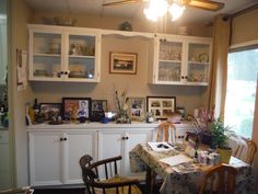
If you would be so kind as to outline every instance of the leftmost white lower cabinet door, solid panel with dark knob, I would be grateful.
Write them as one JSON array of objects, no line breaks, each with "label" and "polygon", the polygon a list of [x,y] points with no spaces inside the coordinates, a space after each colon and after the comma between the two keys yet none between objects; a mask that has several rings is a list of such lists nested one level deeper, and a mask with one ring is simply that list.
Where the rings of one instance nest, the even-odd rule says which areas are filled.
[{"label": "leftmost white lower cabinet door, solid panel with dark knob", "polygon": [[30,133],[31,185],[63,183],[62,137],[61,132]]}]

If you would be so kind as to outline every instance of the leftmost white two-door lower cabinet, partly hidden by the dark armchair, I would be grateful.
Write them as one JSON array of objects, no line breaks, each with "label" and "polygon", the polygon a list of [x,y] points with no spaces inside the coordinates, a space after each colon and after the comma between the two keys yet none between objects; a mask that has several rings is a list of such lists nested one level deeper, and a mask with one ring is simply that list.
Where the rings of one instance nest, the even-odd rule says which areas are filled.
[{"label": "leftmost white two-door lower cabinet, partly hidden by the dark armchair", "polygon": [[31,185],[82,183],[80,158],[95,158],[94,130],[30,132]]}]

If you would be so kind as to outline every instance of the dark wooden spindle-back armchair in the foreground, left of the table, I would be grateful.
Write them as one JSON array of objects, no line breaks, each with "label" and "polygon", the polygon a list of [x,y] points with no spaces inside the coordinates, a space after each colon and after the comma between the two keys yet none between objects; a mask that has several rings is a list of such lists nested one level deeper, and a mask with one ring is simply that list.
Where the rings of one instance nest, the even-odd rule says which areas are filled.
[{"label": "dark wooden spindle-back armchair in the foreground, left of the table", "polygon": [[87,194],[141,194],[136,179],[118,175],[117,163],[121,156],[91,162],[91,156],[80,160]]}]

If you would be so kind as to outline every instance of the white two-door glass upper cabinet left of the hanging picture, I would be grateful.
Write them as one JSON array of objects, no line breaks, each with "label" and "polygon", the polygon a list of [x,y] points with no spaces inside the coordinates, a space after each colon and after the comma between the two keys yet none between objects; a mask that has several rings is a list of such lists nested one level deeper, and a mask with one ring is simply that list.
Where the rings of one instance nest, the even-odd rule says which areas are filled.
[{"label": "white two-door glass upper cabinet left of the hanging picture", "polygon": [[30,80],[99,82],[99,30],[28,25]]}]

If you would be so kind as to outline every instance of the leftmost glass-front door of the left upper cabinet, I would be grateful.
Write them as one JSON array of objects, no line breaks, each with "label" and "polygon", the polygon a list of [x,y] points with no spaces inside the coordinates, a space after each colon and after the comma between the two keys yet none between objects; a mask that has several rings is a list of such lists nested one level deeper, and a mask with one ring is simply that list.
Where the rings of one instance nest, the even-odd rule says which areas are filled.
[{"label": "leftmost glass-front door of the left upper cabinet", "polygon": [[30,32],[30,79],[60,80],[63,36],[58,31]]}]

